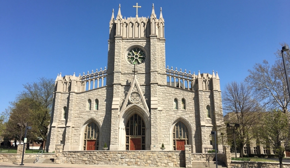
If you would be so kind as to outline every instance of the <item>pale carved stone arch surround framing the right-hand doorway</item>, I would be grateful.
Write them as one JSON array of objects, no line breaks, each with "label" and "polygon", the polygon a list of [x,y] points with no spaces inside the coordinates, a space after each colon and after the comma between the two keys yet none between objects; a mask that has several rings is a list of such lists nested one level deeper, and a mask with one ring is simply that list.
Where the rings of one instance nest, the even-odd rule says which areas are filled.
[{"label": "pale carved stone arch surround framing the right-hand doorway", "polygon": [[170,143],[170,150],[173,150],[173,129],[174,129],[174,126],[176,123],[178,122],[183,122],[184,125],[186,126],[187,130],[188,130],[188,145],[191,145],[193,146],[193,128],[191,126],[191,124],[183,117],[179,117],[177,118],[176,120],[174,120],[173,122],[171,122],[171,125],[169,127],[169,133],[170,133],[170,136],[169,136],[169,143]]}]

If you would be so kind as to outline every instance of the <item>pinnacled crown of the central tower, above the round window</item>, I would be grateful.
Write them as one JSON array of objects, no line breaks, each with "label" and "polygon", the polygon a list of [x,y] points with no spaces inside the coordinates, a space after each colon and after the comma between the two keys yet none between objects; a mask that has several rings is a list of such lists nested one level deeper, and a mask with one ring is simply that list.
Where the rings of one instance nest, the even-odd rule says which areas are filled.
[{"label": "pinnacled crown of the central tower, above the round window", "polygon": [[121,15],[121,5],[116,19],[114,18],[114,10],[110,20],[110,37],[122,37],[123,39],[133,38],[149,38],[150,35],[156,35],[157,38],[164,38],[164,18],[160,9],[160,17],[157,19],[154,12],[154,4],[152,14],[149,17],[128,17],[123,18]]}]

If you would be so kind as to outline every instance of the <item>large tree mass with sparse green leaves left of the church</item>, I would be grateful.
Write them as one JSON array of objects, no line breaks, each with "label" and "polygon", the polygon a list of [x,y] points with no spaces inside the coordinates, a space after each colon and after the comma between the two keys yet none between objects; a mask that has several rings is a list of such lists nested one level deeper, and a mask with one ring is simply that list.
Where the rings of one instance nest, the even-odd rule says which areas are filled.
[{"label": "large tree mass with sparse green leaves left of the church", "polygon": [[28,122],[32,126],[30,131],[31,140],[46,142],[54,85],[53,79],[45,77],[39,78],[38,82],[23,85],[25,91],[16,97],[15,102],[11,103],[12,107],[7,110],[9,116],[6,127],[7,134],[5,135],[7,138],[19,139],[20,128],[16,126],[17,123]]}]

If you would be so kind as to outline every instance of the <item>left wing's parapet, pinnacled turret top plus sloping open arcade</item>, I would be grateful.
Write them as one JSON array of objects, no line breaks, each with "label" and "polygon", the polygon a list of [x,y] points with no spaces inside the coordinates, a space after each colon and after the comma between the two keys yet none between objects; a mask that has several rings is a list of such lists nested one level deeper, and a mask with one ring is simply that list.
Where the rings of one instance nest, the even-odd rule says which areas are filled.
[{"label": "left wing's parapet, pinnacled turret top plus sloping open arcade", "polygon": [[85,92],[92,89],[97,89],[106,86],[107,68],[102,68],[100,71],[96,69],[95,72],[85,74],[81,76],[58,75],[55,80],[56,92]]}]

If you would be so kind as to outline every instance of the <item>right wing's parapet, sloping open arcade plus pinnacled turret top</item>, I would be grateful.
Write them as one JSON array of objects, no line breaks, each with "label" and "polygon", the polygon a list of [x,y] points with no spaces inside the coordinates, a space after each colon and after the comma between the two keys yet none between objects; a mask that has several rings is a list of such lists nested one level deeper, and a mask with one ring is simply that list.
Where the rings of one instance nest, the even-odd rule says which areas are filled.
[{"label": "right wing's parapet, sloping open arcade plus pinnacled turret top", "polygon": [[182,69],[180,71],[177,68],[174,70],[171,66],[171,69],[166,68],[166,75],[167,75],[167,85],[172,87],[177,87],[185,90],[190,91],[220,91],[220,82],[219,76],[216,72],[216,75],[203,73],[200,74],[198,71],[198,75],[195,75],[195,72],[191,74],[189,71],[184,72]]}]

